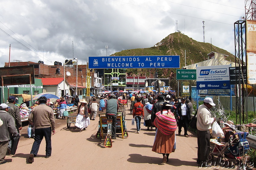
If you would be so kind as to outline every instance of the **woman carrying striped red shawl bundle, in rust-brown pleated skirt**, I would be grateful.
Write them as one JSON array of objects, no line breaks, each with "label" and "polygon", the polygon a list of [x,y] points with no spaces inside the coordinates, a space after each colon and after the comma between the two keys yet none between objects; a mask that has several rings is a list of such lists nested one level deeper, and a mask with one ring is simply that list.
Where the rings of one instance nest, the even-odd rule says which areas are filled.
[{"label": "woman carrying striped red shawl bundle, in rust-brown pleated skirt", "polygon": [[177,123],[170,110],[169,101],[165,101],[162,110],[156,113],[154,125],[156,126],[156,137],[152,151],[163,154],[163,163],[169,161],[170,153],[175,151],[175,130]]}]

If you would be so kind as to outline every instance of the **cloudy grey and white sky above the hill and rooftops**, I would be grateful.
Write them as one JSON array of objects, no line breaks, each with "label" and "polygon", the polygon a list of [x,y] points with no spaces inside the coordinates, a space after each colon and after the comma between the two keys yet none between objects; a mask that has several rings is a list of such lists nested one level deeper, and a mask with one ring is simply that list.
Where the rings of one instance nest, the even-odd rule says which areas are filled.
[{"label": "cloudy grey and white sky above the hill and rooftops", "polygon": [[[125,49],[149,48],[178,30],[234,54],[234,22],[243,0],[12,0],[0,1],[0,67],[9,62],[53,65]],[[73,46],[74,44],[74,57]]]}]

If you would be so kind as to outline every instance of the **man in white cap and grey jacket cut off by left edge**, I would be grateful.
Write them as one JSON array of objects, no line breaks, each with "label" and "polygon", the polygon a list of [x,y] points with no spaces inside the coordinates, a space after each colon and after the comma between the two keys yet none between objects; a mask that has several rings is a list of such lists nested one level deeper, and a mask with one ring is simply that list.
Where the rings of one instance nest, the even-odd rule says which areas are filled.
[{"label": "man in white cap and grey jacket cut off by left edge", "polygon": [[6,156],[10,133],[13,135],[13,137],[18,135],[14,119],[8,113],[9,108],[10,107],[5,103],[0,105],[0,120],[3,121],[2,126],[0,126],[0,164],[7,162],[4,160],[4,158]]}]

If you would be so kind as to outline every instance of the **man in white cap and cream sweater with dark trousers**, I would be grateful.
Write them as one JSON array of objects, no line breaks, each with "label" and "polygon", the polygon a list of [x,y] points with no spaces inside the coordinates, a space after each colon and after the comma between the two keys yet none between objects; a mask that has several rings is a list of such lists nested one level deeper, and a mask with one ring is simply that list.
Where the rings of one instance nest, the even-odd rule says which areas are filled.
[{"label": "man in white cap and cream sweater with dark trousers", "polygon": [[197,110],[197,160],[196,162],[201,167],[207,167],[208,155],[210,152],[210,129],[212,123],[216,120],[211,117],[210,109],[215,106],[212,98],[206,97],[204,103]]}]

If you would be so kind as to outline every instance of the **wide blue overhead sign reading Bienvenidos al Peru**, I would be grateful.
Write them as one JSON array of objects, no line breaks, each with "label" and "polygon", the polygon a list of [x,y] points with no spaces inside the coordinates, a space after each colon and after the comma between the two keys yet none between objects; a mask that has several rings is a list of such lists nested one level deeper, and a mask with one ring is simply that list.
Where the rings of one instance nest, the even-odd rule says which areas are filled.
[{"label": "wide blue overhead sign reading Bienvenidos al Peru", "polygon": [[89,69],[180,68],[180,55],[89,57]]}]

